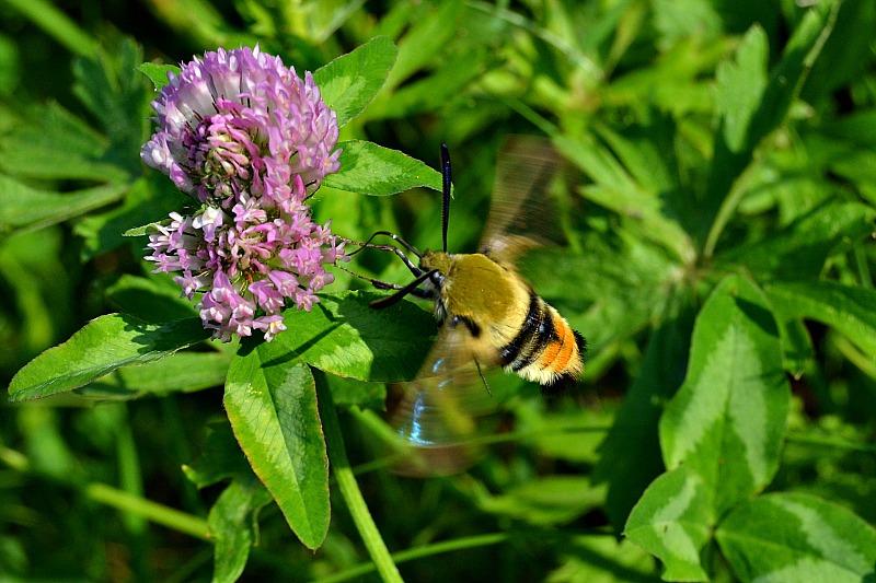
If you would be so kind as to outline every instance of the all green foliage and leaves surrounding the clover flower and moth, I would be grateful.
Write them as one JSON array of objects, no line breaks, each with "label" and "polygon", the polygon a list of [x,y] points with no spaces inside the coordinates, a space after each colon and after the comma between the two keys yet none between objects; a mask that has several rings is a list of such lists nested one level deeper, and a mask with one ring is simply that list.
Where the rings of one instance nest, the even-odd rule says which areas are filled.
[{"label": "all green foliage and leaves surrounding the clover flower and moth", "polygon": [[[0,4],[0,581],[391,580],[381,546],[410,581],[872,579],[876,2],[808,4]],[[585,380],[545,401],[491,374],[462,475],[388,470],[382,382],[417,370],[427,306],[374,315],[338,272],[275,342],[215,346],[122,236],[183,201],[139,161],[140,65],[256,43],[337,101],[314,212],[347,237],[439,244],[442,141],[451,250],[507,136],[575,171],[567,245],[523,268]]]}]

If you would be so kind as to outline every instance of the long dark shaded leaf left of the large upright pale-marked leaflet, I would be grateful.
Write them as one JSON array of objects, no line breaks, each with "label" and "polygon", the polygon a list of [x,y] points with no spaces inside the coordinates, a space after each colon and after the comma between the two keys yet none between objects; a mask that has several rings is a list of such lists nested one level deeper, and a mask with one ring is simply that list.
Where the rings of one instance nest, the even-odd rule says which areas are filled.
[{"label": "long dark shaded leaf left of the large upright pale-marked leaflet", "polygon": [[657,434],[660,404],[684,380],[693,328],[691,304],[692,299],[680,293],[662,314],[662,323],[648,338],[642,371],[599,448],[593,481],[609,482],[606,513],[616,532],[652,480],[664,471]]}]

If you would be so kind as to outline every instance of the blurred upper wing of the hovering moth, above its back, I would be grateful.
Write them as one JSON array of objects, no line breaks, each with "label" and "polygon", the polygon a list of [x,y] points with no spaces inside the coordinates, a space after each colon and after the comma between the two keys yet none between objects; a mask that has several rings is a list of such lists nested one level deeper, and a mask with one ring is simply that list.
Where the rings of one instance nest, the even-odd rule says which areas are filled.
[{"label": "blurred upper wing of the hovering moth, above its back", "polygon": [[493,199],[479,250],[512,263],[521,253],[561,241],[551,188],[564,170],[548,139],[508,138],[496,159]]}]

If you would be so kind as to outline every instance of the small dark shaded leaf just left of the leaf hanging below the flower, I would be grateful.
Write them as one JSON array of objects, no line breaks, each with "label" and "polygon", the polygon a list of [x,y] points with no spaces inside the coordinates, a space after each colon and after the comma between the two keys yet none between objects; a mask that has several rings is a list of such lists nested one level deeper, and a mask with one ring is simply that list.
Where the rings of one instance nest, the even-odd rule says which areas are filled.
[{"label": "small dark shaded leaf just left of the leaf hanging below the flower", "polygon": [[200,455],[191,465],[183,466],[183,474],[188,481],[200,489],[229,478],[246,481],[254,477],[252,467],[231,432],[231,424],[215,421],[208,427],[207,441]]}]

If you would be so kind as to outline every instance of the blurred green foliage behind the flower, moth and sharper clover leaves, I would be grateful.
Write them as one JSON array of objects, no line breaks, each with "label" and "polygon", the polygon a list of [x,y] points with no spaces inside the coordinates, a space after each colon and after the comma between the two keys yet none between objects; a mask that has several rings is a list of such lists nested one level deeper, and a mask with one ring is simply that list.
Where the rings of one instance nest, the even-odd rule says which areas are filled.
[{"label": "blurred green foliage behind the flower, moth and sharper clover leaves", "polygon": [[[620,492],[613,485],[613,503],[589,478],[630,387],[657,375],[667,393],[654,398],[671,396],[684,376],[695,310],[734,266],[761,281],[784,269],[872,288],[876,250],[861,244],[860,225],[814,225],[835,226],[835,236],[816,237],[816,248],[798,248],[779,267],[769,259],[781,249],[757,245],[825,205],[876,205],[876,3],[841,4],[781,124],[764,130],[724,184],[711,172],[716,119],[760,95],[804,13],[792,0],[4,0],[0,380],[7,385],[89,319],[136,302],[114,289],[145,273],[143,242],[120,233],[181,201],[139,161],[153,92],[137,65],[258,43],[301,72],[388,35],[400,49],[396,65],[342,139],[368,139],[433,166],[438,145],[449,144],[451,250],[475,248],[508,135],[546,133],[573,144],[564,150],[569,158],[579,154],[583,196],[565,199],[557,217],[567,245],[539,255],[527,273],[588,337],[590,352],[580,392],[550,405],[516,378],[491,376],[514,395],[500,423],[516,436],[471,474],[418,481],[361,466],[381,534],[391,549],[458,543],[452,560],[404,563],[411,581],[654,580],[653,558],[614,537],[661,471],[656,434],[650,443],[631,438],[652,450],[652,467],[627,468],[641,483]],[[735,57],[752,25],[766,48],[760,78]],[[741,195],[726,226],[711,232],[719,213],[710,198],[715,188]],[[58,197],[67,203],[59,207]],[[323,188],[314,211],[351,238],[381,229],[419,248],[440,243],[434,191],[378,198]],[[818,247],[826,242],[832,247]],[[407,279],[385,257],[362,258],[359,267]],[[343,273],[338,280],[339,289],[359,284]],[[172,290],[165,296],[168,308],[193,313]],[[673,327],[661,337],[662,351],[645,359],[652,330],[667,320]],[[873,523],[876,454],[842,444],[873,443],[876,363],[821,324],[809,323],[808,333],[811,353],[796,362],[793,431],[771,488],[817,493]],[[115,494],[101,485],[205,516],[219,490],[198,492],[180,468],[204,448],[210,423],[224,419],[220,386],[221,378],[205,380],[211,388],[100,406],[76,398],[0,405],[0,581],[209,579],[209,543],[107,506]],[[342,421],[354,464],[379,460],[372,418],[353,412]],[[602,468],[607,475],[616,478]],[[315,553],[276,508],[258,517],[246,578],[330,580],[366,560],[343,504],[333,508]],[[718,579],[731,576],[726,565],[715,569]]]}]

